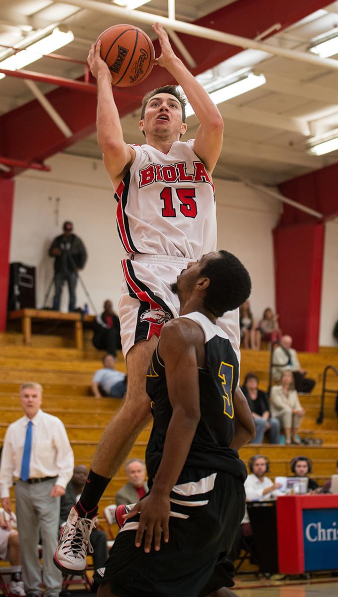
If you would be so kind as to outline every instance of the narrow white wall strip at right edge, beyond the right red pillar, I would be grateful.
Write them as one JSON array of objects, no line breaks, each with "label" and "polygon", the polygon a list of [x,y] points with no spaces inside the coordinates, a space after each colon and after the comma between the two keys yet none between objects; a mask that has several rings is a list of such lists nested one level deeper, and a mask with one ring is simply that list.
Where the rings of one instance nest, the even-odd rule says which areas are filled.
[{"label": "narrow white wall strip at right edge, beyond the right red pillar", "polygon": [[320,346],[337,346],[332,332],[338,320],[338,218],[325,224]]}]

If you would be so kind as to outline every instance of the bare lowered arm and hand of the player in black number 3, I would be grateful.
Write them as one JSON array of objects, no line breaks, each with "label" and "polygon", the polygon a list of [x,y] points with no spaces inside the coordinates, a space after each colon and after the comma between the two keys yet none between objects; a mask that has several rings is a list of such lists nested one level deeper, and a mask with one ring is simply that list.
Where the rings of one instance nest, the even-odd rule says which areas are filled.
[{"label": "bare lowered arm and hand of the player in black number 3", "polygon": [[[187,320],[188,321],[188,320]],[[145,536],[145,552],[152,540],[155,550],[169,539],[170,492],[179,478],[189,453],[201,413],[194,330],[180,321],[167,323],[161,332],[160,352],[165,363],[165,377],[173,414],[168,426],[161,464],[149,496],[143,498],[125,518],[140,512],[136,547]],[[161,533],[162,531],[162,533]]]}]

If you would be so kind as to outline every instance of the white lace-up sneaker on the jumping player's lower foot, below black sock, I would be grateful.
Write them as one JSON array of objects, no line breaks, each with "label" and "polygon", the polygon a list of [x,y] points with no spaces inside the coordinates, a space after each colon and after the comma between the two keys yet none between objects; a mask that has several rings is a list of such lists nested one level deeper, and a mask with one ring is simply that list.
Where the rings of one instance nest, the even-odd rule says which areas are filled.
[{"label": "white lace-up sneaker on the jumping player's lower foot, below black sock", "polygon": [[81,518],[73,506],[66,524],[61,530],[53,562],[65,573],[84,574],[87,569],[87,552],[93,553],[90,534],[95,527],[95,518]]}]

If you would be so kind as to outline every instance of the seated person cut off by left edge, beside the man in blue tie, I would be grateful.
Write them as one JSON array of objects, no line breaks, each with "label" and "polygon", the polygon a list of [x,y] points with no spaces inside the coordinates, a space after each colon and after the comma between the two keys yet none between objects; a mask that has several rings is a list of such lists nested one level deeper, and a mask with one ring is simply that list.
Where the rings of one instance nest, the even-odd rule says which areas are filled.
[{"label": "seated person cut off by left edge, beside the man in blue tie", "polygon": [[0,560],[10,562],[12,567],[10,595],[24,597],[23,582],[21,580],[21,555],[19,533],[13,528],[16,526],[15,514],[7,514],[0,508]]}]

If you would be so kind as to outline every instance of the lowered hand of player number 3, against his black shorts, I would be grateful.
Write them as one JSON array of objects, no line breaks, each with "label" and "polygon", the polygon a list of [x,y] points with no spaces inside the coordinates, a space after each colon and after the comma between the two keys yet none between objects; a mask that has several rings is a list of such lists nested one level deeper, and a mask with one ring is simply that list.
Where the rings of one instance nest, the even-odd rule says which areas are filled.
[{"label": "lowered hand of player number 3, against his black shorts", "polygon": [[163,536],[164,543],[168,543],[169,540],[169,496],[149,494],[149,496],[139,501],[123,518],[127,520],[128,518],[133,518],[138,513],[140,513],[140,522],[136,532],[136,547],[141,546],[144,536],[145,552],[150,552],[152,541],[155,552],[159,552],[161,549],[161,537]]}]

